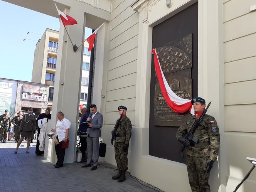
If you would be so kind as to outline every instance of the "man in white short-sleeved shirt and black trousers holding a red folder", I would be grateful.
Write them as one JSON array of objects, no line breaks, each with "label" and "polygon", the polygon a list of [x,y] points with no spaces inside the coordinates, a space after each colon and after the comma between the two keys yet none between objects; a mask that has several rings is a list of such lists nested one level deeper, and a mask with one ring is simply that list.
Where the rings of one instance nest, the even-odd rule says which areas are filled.
[{"label": "man in white short-sleeved shirt and black trousers holding a red folder", "polygon": [[57,118],[58,121],[56,123],[56,128],[52,129],[52,132],[56,133],[57,140],[59,141],[59,144],[55,145],[55,151],[58,159],[56,165],[54,165],[55,168],[63,167],[66,148],[62,148],[62,142],[67,142],[71,126],[71,122],[64,117],[64,113],[61,111],[57,113]]}]

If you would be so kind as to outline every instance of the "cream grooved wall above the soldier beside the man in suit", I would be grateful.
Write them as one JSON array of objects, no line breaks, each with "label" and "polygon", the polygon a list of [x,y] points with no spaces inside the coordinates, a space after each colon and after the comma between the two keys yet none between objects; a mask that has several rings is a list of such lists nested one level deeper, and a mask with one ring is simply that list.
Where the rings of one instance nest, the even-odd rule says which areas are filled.
[{"label": "cream grooved wall above the soldier beside the man in suit", "polygon": [[[139,13],[131,9],[132,1],[114,1],[109,34],[105,125],[113,127],[118,106],[128,108],[127,116],[135,125],[135,92]],[[132,90],[128,93],[128,90]],[[123,94],[124,93],[124,94]]]}]

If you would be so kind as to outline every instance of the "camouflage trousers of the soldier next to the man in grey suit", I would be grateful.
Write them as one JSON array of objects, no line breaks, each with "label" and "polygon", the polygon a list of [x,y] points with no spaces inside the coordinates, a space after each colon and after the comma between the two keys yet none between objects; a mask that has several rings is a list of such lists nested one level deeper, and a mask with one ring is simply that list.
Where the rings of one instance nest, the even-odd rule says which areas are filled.
[{"label": "camouflage trousers of the soldier next to the man in grey suit", "polygon": [[128,150],[126,152],[123,152],[123,144],[120,142],[115,142],[115,158],[116,158],[116,164],[117,168],[119,170],[125,171],[127,170],[127,165],[128,165]]}]

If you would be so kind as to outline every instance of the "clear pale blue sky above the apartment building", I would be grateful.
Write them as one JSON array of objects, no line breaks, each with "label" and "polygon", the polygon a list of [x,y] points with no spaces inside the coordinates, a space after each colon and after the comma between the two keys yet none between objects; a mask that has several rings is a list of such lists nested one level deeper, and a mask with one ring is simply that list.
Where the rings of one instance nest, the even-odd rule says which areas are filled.
[{"label": "clear pale blue sky above the apartment building", "polygon": [[0,18],[0,77],[31,81],[35,45],[46,28],[59,31],[59,19],[2,0]]}]

